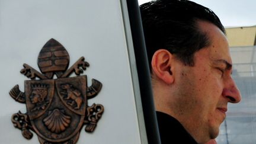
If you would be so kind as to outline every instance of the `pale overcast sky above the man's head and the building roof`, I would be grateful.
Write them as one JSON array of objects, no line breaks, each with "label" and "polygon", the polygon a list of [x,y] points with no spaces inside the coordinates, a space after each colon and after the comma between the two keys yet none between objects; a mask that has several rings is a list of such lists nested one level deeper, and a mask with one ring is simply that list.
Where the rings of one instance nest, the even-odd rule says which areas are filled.
[{"label": "pale overcast sky above the man's head and the building roof", "polygon": [[[225,27],[256,25],[256,0],[191,0],[212,9]],[[138,0],[139,5],[149,0]]]}]

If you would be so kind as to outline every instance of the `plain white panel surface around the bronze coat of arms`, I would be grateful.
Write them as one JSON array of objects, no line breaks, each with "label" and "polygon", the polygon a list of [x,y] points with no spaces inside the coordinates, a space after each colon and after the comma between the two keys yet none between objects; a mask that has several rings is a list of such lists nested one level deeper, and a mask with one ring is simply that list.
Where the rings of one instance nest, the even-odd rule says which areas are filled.
[{"label": "plain white panel surface around the bronze coat of arms", "polygon": [[141,143],[118,0],[0,0],[0,143],[39,143],[35,134],[27,140],[14,128],[12,114],[26,110],[8,92],[16,84],[24,91],[23,63],[39,71],[37,56],[51,38],[68,51],[69,66],[81,56],[89,62],[83,74],[88,85],[92,78],[103,83],[100,94],[88,100],[104,105],[103,117],[93,133],[83,127],[78,143]]}]

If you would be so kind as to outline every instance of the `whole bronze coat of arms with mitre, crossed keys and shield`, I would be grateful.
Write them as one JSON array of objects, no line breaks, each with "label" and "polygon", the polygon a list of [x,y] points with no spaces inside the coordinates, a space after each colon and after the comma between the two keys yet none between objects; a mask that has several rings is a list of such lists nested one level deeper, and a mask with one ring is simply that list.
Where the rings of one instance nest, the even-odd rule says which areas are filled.
[{"label": "whole bronze coat of arms with mitre, crossed keys and shield", "polygon": [[[84,57],[68,69],[68,52],[55,39],[44,44],[37,64],[41,73],[27,64],[21,69],[31,79],[25,81],[25,92],[18,85],[9,92],[15,101],[27,107],[27,113],[19,111],[12,115],[12,123],[26,139],[31,139],[33,131],[40,143],[76,143],[82,126],[87,124],[85,131],[93,132],[103,114],[103,105],[87,105],[87,100],[100,92],[102,84],[92,79],[92,85],[87,87],[87,76],[80,76],[89,66]],[[73,72],[77,76],[69,78]]]}]

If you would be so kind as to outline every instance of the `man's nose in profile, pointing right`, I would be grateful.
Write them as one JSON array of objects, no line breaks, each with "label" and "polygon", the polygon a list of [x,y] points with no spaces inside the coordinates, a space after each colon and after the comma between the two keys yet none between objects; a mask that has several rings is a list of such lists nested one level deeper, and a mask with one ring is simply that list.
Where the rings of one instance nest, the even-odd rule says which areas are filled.
[{"label": "man's nose in profile, pointing right", "polygon": [[231,76],[229,76],[228,79],[225,79],[224,84],[225,87],[222,91],[223,97],[228,98],[229,103],[238,103],[241,101],[241,93]]}]

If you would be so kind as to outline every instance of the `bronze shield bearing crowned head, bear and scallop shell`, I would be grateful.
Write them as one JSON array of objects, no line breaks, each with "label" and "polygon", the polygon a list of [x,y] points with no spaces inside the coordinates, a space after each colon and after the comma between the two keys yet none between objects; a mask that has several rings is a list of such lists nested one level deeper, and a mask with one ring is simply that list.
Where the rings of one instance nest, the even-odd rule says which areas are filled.
[{"label": "bronze shield bearing crowned head, bear and scallop shell", "polygon": [[86,112],[86,76],[25,81],[31,124],[41,139],[65,142],[77,136]]}]

